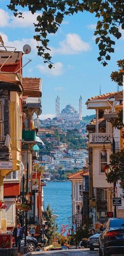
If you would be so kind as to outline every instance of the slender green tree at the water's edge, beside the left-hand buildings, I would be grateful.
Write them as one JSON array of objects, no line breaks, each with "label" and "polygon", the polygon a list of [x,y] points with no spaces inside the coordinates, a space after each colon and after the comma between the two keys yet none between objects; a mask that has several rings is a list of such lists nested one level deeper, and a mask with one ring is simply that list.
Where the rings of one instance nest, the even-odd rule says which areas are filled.
[{"label": "slender green tree at the water's edge, beside the left-hand buildings", "polygon": [[54,238],[54,220],[52,216],[52,211],[50,210],[50,205],[48,204],[46,211],[44,213],[44,220],[47,221],[47,229],[45,232],[45,235],[48,239],[48,245],[50,245],[53,242]]}]

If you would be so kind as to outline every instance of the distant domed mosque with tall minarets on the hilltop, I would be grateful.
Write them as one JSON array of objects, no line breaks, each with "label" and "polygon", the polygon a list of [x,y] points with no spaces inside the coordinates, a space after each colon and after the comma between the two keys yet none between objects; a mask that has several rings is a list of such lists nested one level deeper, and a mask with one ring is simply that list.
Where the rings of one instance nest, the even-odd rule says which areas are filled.
[{"label": "distant domed mosque with tall minarets on the hilltop", "polygon": [[78,121],[82,120],[82,97],[79,98],[79,112],[72,106],[67,105],[60,112],[60,99],[57,96],[56,98],[56,118],[65,119],[67,121]]}]

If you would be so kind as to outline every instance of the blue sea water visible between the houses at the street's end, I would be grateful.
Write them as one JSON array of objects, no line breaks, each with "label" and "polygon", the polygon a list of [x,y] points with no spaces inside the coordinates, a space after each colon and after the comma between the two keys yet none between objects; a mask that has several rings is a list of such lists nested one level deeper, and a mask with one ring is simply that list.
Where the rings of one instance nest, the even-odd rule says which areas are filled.
[{"label": "blue sea water visible between the houses at the street's end", "polygon": [[44,187],[44,210],[48,204],[53,214],[58,215],[59,232],[62,224],[71,226],[71,182],[48,182]]}]

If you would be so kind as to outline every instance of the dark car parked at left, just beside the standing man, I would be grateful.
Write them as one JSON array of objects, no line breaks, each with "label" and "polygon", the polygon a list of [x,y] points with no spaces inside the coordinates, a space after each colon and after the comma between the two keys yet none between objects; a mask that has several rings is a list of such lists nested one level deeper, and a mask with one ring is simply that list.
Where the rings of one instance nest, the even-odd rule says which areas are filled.
[{"label": "dark car parked at left, just beside the standing man", "polygon": [[[38,247],[37,239],[34,238],[33,236],[26,236],[26,242],[28,245],[29,252],[34,252],[35,249]],[[22,241],[20,243],[20,247],[23,247],[24,243],[25,243],[25,238],[22,239]]]}]

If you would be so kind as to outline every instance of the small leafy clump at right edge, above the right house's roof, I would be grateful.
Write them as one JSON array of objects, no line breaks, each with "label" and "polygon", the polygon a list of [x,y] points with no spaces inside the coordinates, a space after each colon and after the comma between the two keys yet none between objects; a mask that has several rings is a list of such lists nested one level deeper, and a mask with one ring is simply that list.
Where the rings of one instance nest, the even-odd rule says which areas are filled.
[{"label": "small leafy clump at right edge, above the right house's roof", "polygon": [[123,86],[123,73],[124,73],[124,60],[117,61],[120,71],[114,71],[111,73],[111,80],[118,83],[118,86]]}]

